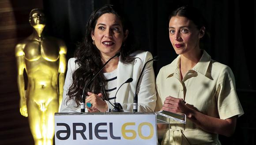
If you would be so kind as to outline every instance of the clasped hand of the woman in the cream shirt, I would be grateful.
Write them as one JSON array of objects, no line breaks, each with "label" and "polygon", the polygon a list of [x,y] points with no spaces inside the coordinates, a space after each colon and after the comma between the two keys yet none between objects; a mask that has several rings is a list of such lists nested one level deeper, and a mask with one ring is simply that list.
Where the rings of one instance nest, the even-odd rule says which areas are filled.
[{"label": "clasped hand of the woman in the cream shirt", "polygon": [[184,113],[188,112],[189,108],[185,105],[185,101],[180,98],[166,97],[162,110],[173,112],[173,113]]}]

